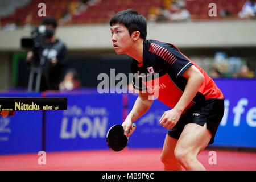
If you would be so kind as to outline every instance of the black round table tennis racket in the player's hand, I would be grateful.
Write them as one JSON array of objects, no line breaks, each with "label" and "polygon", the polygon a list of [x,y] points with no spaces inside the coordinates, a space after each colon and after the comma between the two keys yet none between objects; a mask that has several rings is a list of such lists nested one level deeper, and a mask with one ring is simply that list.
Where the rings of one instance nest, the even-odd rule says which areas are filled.
[{"label": "black round table tennis racket in the player's hand", "polygon": [[[135,123],[133,123],[132,127],[135,127]],[[131,130],[131,129],[130,129]],[[127,137],[124,135],[125,130],[123,130],[122,125],[114,125],[110,127],[107,135],[106,135],[106,143],[109,148],[113,151],[121,151],[126,147],[128,143]]]}]

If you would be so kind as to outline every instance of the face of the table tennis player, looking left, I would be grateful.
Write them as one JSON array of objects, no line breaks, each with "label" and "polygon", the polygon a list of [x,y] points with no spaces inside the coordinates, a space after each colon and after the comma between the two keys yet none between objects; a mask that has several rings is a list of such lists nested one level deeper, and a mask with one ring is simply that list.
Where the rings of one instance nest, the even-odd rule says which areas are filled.
[{"label": "face of the table tennis player, looking left", "polygon": [[121,24],[114,24],[110,27],[110,30],[115,52],[117,54],[129,52],[129,49],[132,47],[131,44],[133,43],[129,30]]}]

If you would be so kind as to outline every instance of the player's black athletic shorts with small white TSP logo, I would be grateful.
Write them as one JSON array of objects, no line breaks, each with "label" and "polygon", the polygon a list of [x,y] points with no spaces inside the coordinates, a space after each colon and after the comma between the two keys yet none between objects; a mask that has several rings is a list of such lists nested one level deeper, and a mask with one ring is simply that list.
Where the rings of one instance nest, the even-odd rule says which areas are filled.
[{"label": "player's black athletic shorts with small white TSP logo", "polygon": [[214,142],[214,137],[221,119],[224,114],[224,100],[209,99],[201,103],[193,104],[184,114],[180,116],[179,121],[172,129],[168,129],[167,134],[175,139],[179,139],[184,126],[188,123],[196,123],[204,126],[212,133],[209,144]]}]

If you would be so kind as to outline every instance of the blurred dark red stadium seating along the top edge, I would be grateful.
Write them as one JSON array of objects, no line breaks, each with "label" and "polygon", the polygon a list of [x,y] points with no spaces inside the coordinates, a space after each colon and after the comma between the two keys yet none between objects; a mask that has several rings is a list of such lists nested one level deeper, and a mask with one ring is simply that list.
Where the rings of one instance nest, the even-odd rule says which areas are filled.
[{"label": "blurred dark red stadium seating along the top edge", "polygon": [[[237,19],[237,14],[241,11],[246,0],[187,0],[185,9],[191,14],[192,20],[221,20]],[[13,14],[2,17],[1,26],[7,23],[15,23],[16,26],[23,26],[26,23],[38,25],[44,17],[38,16],[38,4],[42,0],[30,1],[26,6],[17,8]],[[57,20],[63,18],[65,14],[70,14],[71,18],[64,24],[85,24],[85,23],[105,23],[110,17],[120,10],[135,9],[138,13],[147,17],[149,11],[154,7],[162,7],[164,0],[101,0],[95,4],[82,4],[81,0],[45,0],[46,15],[55,16]],[[90,1],[87,1],[90,2]],[[170,1],[171,2],[171,1]],[[175,2],[175,1],[172,1]],[[216,3],[217,17],[210,17],[208,11],[209,4]],[[85,9],[76,11],[81,7]],[[32,16],[27,22],[28,16]]]}]

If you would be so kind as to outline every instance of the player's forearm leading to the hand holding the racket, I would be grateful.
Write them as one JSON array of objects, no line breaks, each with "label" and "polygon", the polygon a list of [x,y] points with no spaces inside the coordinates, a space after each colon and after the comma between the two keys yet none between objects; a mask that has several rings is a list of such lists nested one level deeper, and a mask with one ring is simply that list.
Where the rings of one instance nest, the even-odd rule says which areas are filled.
[{"label": "player's forearm leading to the hand holding the racket", "polygon": [[127,118],[131,119],[132,122],[141,117],[144,113],[150,109],[153,100],[148,100],[147,98],[138,97],[135,101],[133,109],[128,114]]}]

